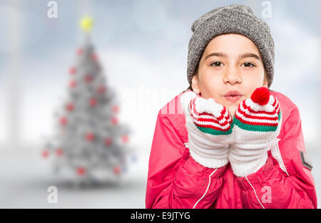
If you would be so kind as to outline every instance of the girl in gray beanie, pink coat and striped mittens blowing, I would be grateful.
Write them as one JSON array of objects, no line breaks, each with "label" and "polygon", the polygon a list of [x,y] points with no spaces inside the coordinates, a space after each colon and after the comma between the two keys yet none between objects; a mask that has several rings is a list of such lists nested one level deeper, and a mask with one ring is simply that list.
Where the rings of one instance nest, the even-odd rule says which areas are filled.
[{"label": "girl in gray beanie, pink coat and striped mittens blowing", "polygon": [[146,208],[317,208],[299,110],[268,89],[269,26],[233,4],[192,31],[190,87],[158,113]]}]

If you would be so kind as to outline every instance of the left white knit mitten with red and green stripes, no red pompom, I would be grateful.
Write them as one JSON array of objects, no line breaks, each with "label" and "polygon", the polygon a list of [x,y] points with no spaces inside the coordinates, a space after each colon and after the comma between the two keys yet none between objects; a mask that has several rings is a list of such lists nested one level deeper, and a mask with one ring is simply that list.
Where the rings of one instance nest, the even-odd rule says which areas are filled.
[{"label": "left white knit mitten with red and green stripes, no red pompom", "polygon": [[205,167],[226,165],[228,147],[233,142],[233,119],[228,110],[213,98],[202,98],[192,90],[183,93],[180,103],[185,113],[191,157]]}]

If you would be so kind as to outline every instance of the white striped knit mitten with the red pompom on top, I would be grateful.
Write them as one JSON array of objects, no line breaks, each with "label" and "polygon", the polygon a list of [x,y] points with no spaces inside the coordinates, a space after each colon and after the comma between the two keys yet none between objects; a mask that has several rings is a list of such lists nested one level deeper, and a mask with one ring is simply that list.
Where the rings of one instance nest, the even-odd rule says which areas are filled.
[{"label": "white striped knit mitten with the red pompom on top", "polygon": [[233,123],[234,142],[228,160],[234,174],[245,177],[265,165],[267,151],[278,142],[282,124],[280,103],[267,88],[257,88],[251,98],[240,103]]}]

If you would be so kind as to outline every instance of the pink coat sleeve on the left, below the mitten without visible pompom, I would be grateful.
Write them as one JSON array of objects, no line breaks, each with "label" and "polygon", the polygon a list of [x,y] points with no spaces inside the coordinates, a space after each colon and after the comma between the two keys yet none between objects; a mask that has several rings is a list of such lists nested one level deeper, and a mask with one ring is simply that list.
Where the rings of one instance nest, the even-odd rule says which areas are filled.
[{"label": "pink coat sleeve on the left, below the mitten without visible pompom", "polygon": [[175,128],[184,123],[173,117],[158,113],[148,164],[146,208],[210,208],[223,186],[225,166],[212,169],[195,162],[181,138],[183,133]]}]

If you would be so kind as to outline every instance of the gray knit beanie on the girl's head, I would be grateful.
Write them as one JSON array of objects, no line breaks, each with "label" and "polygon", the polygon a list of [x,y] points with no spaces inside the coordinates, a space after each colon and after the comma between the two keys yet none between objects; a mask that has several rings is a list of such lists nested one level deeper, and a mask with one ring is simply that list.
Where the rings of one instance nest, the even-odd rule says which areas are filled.
[{"label": "gray knit beanie on the girl's head", "polygon": [[265,71],[267,73],[267,85],[273,81],[274,73],[274,41],[270,33],[270,27],[253,14],[249,6],[232,4],[213,9],[200,16],[192,24],[193,36],[188,43],[188,83],[192,84],[198,61],[208,43],[215,38],[227,33],[237,33],[250,38],[258,47]]}]

